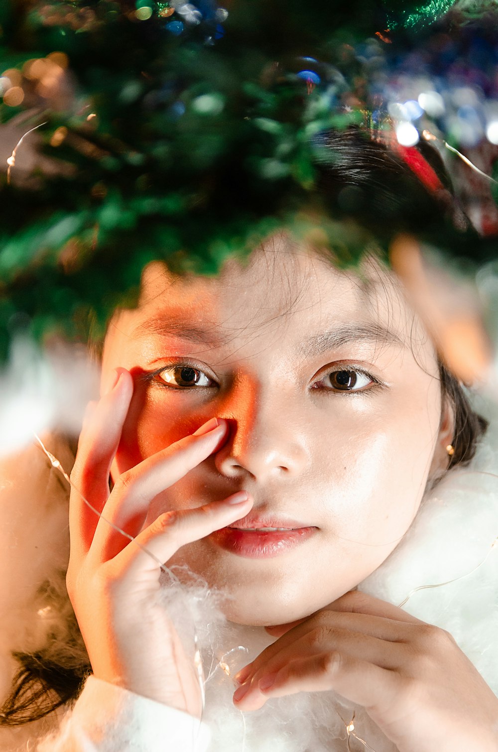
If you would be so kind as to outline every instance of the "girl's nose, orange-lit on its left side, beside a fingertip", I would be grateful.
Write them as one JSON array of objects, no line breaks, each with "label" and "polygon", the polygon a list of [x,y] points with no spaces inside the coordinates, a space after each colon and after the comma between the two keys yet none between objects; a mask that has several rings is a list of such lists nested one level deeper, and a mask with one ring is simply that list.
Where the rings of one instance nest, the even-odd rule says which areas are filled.
[{"label": "girl's nose, orange-lit on its left side, beside a fingertip", "polygon": [[238,387],[217,411],[229,423],[229,438],[214,456],[218,472],[261,483],[301,474],[309,463],[306,423],[289,393],[263,394],[247,381]]}]

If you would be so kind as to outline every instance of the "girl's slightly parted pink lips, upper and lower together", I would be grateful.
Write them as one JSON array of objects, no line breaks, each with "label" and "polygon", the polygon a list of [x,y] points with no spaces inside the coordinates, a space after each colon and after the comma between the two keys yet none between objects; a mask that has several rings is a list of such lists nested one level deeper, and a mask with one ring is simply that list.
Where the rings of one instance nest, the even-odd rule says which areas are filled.
[{"label": "girl's slightly parted pink lips, upper and lower together", "polygon": [[[283,527],[285,530],[260,532],[247,528]],[[248,559],[267,559],[287,553],[314,535],[316,527],[306,526],[296,520],[278,520],[276,517],[254,517],[248,514],[229,527],[215,530],[209,540],[221,548]]]}]

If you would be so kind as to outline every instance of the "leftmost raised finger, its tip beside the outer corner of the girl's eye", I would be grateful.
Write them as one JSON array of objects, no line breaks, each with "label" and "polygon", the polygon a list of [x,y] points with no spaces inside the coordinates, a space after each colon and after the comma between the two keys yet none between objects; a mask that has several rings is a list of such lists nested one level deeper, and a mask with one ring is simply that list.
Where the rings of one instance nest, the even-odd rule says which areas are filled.
[{"label": "leftmost raised finger, its tip beside the outer corner of the girl's eye", "polygon": [[80,560],[90,549],[99,517],[85,503],[101,512],[109,496],[109,472],[132,399],[133,382],[121,369],[114,388],[98,403],[90,402],[78,441],[71,472],[69,538],[71,559]]}]

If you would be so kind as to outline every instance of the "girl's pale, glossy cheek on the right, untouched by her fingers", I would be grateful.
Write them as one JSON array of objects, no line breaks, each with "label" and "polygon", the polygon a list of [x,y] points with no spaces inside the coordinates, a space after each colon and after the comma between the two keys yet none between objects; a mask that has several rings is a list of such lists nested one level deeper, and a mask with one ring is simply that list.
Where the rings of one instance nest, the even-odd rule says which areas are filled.
[{"label": "girl's pale, glossy cheek on the right, untouched by her fingers", "polygon": [[325,468],[319,495],[338,535],[393,549],[418,511],[438,428],[438,393],[426,387],[329,432],[315,467]]}]

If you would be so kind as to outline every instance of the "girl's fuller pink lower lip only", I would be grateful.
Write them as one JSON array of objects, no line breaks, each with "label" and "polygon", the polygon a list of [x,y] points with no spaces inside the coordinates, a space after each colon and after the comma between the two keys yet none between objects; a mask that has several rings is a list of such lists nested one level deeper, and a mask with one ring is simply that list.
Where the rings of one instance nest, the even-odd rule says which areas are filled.
[{"label": "girl's fuller pink lower lip only", "polygon": [[316,527],[299,527],[295,530],[257,532],[235,527],[223,527],[208,535],[215,544],[247,559],[269,559],[296,548],[316,532]]}]

